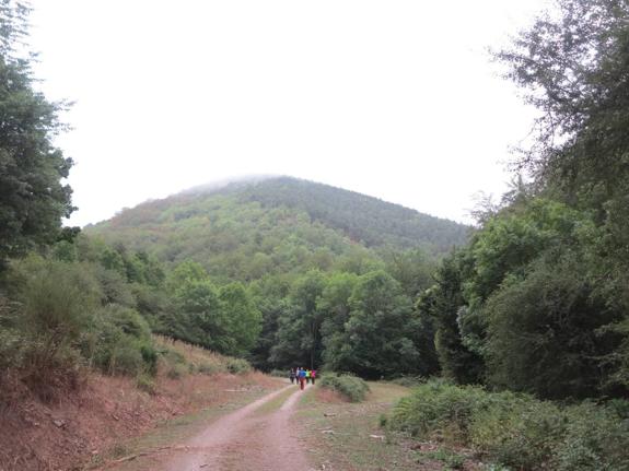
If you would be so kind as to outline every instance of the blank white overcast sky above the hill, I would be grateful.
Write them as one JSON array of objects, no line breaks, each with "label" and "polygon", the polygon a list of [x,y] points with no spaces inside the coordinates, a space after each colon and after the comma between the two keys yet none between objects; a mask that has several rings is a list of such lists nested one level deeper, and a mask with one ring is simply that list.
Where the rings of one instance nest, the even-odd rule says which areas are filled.
[{"label": "blank white overcast sky above the hill", "polygon": [[488,46],[545,0],[33,0],[36,74],[84,225],[243,174],[469,221],[534,111]]}]

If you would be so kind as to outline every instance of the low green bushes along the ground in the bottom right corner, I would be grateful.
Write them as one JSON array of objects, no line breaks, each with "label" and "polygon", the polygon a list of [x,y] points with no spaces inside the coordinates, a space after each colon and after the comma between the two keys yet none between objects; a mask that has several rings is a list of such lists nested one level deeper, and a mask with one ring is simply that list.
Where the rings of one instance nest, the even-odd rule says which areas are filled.
[{"label": "low green bushes along the ground in the bottom right corner", "polygon": [[615,401],[560,408],[526,395],[430,381],[399,401],[386,423],[413,436],[473,446],[509,469],[628,471],[627,407]]}]

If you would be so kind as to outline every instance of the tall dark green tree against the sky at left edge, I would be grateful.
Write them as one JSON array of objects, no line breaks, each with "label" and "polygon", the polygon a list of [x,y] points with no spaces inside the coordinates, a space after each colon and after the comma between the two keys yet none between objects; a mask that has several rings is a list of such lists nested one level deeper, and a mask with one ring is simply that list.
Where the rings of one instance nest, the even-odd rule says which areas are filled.
[{"label": "tall dark green tree against the sky at left edge", "polygon": [[55,242],[74,209],[62,184],[72,161],[53,145],[62,105],[34,90],[32,57],[12,56],[26,13],[21,2],[0,2],[0,263]]}]

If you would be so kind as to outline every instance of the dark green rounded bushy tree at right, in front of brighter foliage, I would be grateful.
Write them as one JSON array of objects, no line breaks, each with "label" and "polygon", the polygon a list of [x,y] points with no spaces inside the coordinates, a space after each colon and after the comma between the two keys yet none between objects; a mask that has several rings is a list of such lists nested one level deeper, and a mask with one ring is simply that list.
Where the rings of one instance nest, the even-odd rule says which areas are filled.
[{"label": "dark green rounded bushy tree at right, in front of brighter foliage", "polygon": [[545,398],[592,397],[609,374],[601,358],[618,335],[598,329],[620,317],[580,272],[581,260],[535,263],[492,295],[487,353],[489,380]]}]

